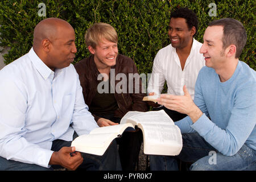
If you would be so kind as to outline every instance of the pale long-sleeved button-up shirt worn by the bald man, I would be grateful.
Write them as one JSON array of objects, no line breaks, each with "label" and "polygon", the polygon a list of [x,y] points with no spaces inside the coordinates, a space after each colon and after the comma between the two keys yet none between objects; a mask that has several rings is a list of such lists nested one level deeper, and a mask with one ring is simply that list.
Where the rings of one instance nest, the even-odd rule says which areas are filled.
[{"label": "pale long-sleeved button-up shirt worn by the bald man", "polygon": [[0,71],[0,156],[49,167],[52,141],[98,127],[73,65],[53,72],[30,52]]}]

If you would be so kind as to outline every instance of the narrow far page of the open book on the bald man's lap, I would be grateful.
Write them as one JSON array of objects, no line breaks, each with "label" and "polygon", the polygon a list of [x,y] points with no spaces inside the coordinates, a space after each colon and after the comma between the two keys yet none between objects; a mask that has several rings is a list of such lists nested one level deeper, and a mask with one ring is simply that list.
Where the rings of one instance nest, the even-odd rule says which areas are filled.
[{"label": "narrow far page of the open book on the bald man's lap", "polygon": [[116,134],[122,134],[123,131],[127,127],[133,127],[133,124],[131,123],[125,123],[125,124],[119,124],[119,125],[112,125],[112,126],[104,126],[104,127],[97,127],[96,129],[93,129],[90,131],[90,134],[101,134],[101,133],[116,133]]}]

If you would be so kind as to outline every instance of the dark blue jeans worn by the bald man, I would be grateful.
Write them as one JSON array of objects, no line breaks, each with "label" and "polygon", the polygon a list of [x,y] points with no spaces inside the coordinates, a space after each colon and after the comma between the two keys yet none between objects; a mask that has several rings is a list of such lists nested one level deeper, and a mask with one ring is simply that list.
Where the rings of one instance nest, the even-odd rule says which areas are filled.
[{"label": "dark blue jeans worn by the bald man", "polygon": [[[73,139],[77,137],[75,133]],[[52,143],[52,151],[59,151],[62,147],[71,146],[72,141],[65,140],[54,140]],[[86,171],[121,171],[121,163],[119,159],[119,154],[117,150],[117,143],[113,140],[110,144],[108,150],[102,156],[85,154],[81,152],[84,158],[82,164],[77,169],[85,169]],[[50,168],[45,168],[38,166],[36,164],[27,164],[16,162],[14,160],[7,160],[0,157],[0,170],[1,171],[52,171],[55,168],[63,168],[61,166],[52,165]]]}]

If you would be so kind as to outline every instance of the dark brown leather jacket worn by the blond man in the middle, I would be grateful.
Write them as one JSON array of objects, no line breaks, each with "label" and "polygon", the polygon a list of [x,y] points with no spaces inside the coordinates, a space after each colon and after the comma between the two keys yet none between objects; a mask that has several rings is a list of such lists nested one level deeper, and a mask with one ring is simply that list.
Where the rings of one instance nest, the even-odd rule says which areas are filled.
[{"label": "dark brown leather jacket worn by the blond man in the middle", "polygon": [[[75,64],[77,73],[79,74],[80,84],[82,86],[82,93],[84,94],[84,101],[86,105],[90,107],[93,97],[96,94],[97,85],[101,80],[97,80],[98,69],[94,63],[94,55],[91,55],[85,59],[82,59]],[[118,73],[124,73],[129,80],[129,73],[138,73],[137,67],[134,64],[134,61],[127,56],[118,54],[116,64],[111,67],[115,71],[115,76]],[[111,76],[111,75],[110,75]],[[115,79],[115,86],[120,80]],[[133,88],[135,88],[135,81],[133,81]],[[114,96],[117,100],[118,109],[115,110],[115,117],[122,118],[128,111],[147,111],[148,106],[146,102],[142,101],[143,97],[146,96],[146,93],[142,93],[142,82],[139,79],[139,93],[129,93],[129,81],[127,81],[127,92],[126,93],[117,93],[115,91]],[[100,117],[94,115],[96,121]]]}]

